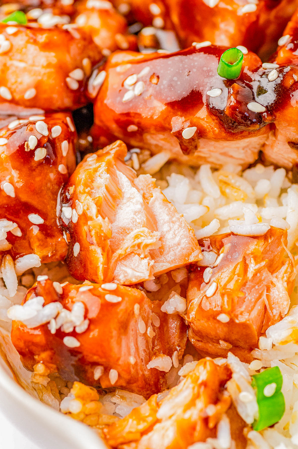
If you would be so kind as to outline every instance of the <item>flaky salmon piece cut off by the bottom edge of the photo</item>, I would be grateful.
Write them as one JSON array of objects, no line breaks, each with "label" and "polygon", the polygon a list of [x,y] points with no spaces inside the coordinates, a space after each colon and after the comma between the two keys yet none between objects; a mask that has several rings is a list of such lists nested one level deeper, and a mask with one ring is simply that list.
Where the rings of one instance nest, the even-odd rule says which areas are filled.
[{"label": "flaky salmon piece cut off by the bottom edge of the photo", "polygon": [[[218,366],[206,358],[184,375],[164,398],[151,396],[125,418],[104,427],[107,444],[119,449],[186,449],[214,437],[216,424],[230,407],[230,397],[223,394],[223,387],[231,372],[227,366]],[[208,405],[214,405],[209,416],[205,412]],[[242,419],[237,415],[235,418],[243,429]],[[245,447],[243,436],[237,447]]]}]

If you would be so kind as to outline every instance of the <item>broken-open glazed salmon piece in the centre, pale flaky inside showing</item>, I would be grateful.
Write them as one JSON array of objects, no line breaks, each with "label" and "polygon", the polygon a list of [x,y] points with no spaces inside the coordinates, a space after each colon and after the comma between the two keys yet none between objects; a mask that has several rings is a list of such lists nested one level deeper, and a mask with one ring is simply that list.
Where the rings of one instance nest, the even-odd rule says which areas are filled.
[{"label": "broken-open glazed salmon piece in the centre, pale flaky inside showing", "polygon": [[[148,178],[138,180],[125,165],[126,151],[117,141],[86,156],[62,192],[60,223],[69,240],[67,264],[78,279],[134,284],[202,257],[192,229],[153,180],[149,184],[162,200],[160,210],[158,201],[152,207],[150,201],[147,204],[141,189]],[[174,248],[169,262],[173,242],[165,235],[161,214],[164,223],[179,225],[177,238],[186,245],[182,252]]]}]

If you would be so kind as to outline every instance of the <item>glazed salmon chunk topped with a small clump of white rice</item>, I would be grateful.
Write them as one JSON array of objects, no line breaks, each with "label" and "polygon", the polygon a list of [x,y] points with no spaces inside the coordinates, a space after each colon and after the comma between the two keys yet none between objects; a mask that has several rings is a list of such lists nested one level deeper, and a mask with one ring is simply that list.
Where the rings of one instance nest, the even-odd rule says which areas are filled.
[{"label": "glazed salmon chunk topped with a small clump of white rice", "polygon": [[176,351],[180,359],[186,345],[181,317],[161,312],[159,304],[130,287],[57,284],[37,282],[25,305],[10,309],[20,320],[32,299],[44,299],[37,315],[13,321],[12,341],[27,369],[42,361],[70,381],[121,387],[145,397],[166,388],[171,357]]}]

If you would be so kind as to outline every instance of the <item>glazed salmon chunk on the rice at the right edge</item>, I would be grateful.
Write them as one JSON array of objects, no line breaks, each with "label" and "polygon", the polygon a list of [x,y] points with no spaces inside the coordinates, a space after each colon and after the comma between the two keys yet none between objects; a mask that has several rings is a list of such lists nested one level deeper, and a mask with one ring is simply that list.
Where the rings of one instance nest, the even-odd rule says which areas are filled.
[{"label": "glazed salmon chunk on the rice at the right edge", "polygon": [[200,243],[219,257],[213,268],[190,273],[189,339],[203,355],[226,357],[231,351],[250,361],[259,336],[289,309],[294,268],[285,258],[287,232],[271,227],[260,237],[229,233]]}]

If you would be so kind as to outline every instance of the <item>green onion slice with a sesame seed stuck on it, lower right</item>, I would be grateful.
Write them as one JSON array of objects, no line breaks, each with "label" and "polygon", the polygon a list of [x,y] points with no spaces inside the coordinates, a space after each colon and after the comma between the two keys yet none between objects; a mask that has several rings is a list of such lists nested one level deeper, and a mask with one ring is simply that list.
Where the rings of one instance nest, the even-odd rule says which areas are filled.
[{"label": "green onion slice with a sesame seed stuck on it, lower right", "polygon": [[281,392],[282,374],[278,366],[254,374],[251,386],[256,389],[259,418],[252,427],[263,430],[281,420],[285,413],[285,398]]}]

